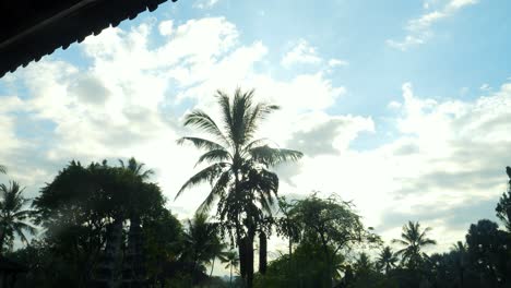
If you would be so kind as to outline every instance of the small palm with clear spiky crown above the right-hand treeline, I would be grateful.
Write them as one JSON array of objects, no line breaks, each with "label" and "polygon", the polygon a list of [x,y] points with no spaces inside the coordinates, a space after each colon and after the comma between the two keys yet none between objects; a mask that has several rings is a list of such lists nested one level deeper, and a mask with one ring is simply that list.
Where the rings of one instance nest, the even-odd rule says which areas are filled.
[{"label": "small palm with clear spiky crown above the right-hand treeline", "polygon": [[425,254],[421,249],[426,245],[436,244],[437,241],[427,238],[427,232],[431,230],[430,227],[426,227],[420,230],[420,224],[408,221],[403,226],[401,239],[392,240],[393,243],[404,245],[404,248],[397,251],[397,254],[402,256],[402,261],[408,268],[416,269],[423,262]]}]

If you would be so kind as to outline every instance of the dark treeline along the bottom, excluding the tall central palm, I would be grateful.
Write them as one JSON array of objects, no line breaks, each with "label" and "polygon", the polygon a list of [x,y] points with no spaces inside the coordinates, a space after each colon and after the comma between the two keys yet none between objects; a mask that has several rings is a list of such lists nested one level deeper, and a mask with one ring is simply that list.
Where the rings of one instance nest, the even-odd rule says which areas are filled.
[{"label": "dark treeline along the bottom, excluding the tall central palm", "polygon": [[[1,185],[2,255],[28,268],[15,287],[96,287],[105,267],[118,287],[130,279],[143,279],[145,287],[245,287],[240,262],[249,261],[248,252],[234,250],[216,218],[195,214],[180,223],[150,175],[134,158],[126,166],[72,161],[32,208],[17,183]],[[504,229],[482,219],[470,226],[465,241],[430,255],[424,248],[436,241],[419,223],[403,226],[393,251],[337,196],[278,197],[275,204],[278,211],[266,224],[272,228],[254,248],[259,259],[251,260],[259,263],[254,287],[510,287],[511,178],[496,206]],[[119,249],[107,257],[119,223]],[[40,233],[28,244],[25,235],[36,226]],[[15,235],[27,245],[12,251]],[[272,235],[288,248],[266,264],[263,245]],[[141,247],[130,248],[136,241]],[[143,264],[138,274],[133,260]],[[215,263],[229,277],[213,276]],[[136,275],[126,277],[130,272]]]}]

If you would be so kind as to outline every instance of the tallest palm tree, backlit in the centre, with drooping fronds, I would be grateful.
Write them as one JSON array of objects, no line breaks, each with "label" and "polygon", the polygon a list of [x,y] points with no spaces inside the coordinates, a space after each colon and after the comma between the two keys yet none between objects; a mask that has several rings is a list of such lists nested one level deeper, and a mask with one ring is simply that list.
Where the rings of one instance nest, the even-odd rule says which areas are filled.
[{"label": "tallest palm tree, backlit in the centre, with drooping fronds", "polygon": [[[278,190],[278,178],[270,167],[299,159],[297,151],[272,147],[265,139],[255,139],[260,122],[278,106],[253,103],[253,91],[236,89],[233,100],[223,92],[216,97],[221,106],[222,122],[217,124],[207,113],[193,110],[185,117],[186,127],[194,127],[212,136],[212,140],[187,136],[179,144],[189,142],[205,151],[197,165],[207,166],[192,176],[178,191],[210,183],[212,190],[199,212],[209,212],[218,201],[217,214],[224,228],[236,238],[241,252],[248,253],[241,261],[241,274],[251,287],[253,277],[253,238],[264,214],[271,215]],[[242,244],[247,243],[247,244]],[[241,251],[243,250],[243,251]],[[247,273],[245,273],[247,272]]]}]

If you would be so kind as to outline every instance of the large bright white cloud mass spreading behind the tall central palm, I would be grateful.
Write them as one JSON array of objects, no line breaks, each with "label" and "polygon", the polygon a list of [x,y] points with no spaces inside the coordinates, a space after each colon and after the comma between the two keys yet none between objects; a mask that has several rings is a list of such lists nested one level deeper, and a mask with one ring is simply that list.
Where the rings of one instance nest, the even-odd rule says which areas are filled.
[{"label": "large bright white cloud mass spreading behind the tall central palm", "polygon": [[[460,9],[468,2],[450,3]],[[413,25],[424,29],[436,17]],[[182,128],[182,116],[192,108],[217,116],[212,95],[239,86],[255,87],[259,100],[282,106],[262,135],[306,154],[295,166],[278,167],[281,193],[338,193],[387,240],[397,237],[404,221],[424,220],[444,249],[463,238],[466,211],[489,208],[504,190],[500,168],[511,163],[511,84],[473,100],[439,100],[417,96],[404,83],[402,97],[390,104],[395,136],[358,149],[357,139],[385,131],[371,117],[335,112],[355,97],[346,87],[321,65],[277,77],[264,63],[278,51],[257,39],[240,43],[239,35],[225,17],[142,23],[88,37],[79,46],[85,68],[47,58],[20,69],[5,80],[12,91],[2,95],[0,132],[7,140],[0,143],[0,163],[35,195],[72,158],[135,156],[156,170],[154,180],[174,199],[198,156],[176,145],[193,134]],[[154,36],[163,41],[155,46]],[[309,55],[309,63],[323,59],[311,49],[305,43],[298,50]],[[343,65],[338,61],[329,62]],[[170,207],[189,216],[205,193],[206,188],[189,191]],[[439,212],[420,213],[433,208]],[[451,209],[464,213],[445,217]]]}]

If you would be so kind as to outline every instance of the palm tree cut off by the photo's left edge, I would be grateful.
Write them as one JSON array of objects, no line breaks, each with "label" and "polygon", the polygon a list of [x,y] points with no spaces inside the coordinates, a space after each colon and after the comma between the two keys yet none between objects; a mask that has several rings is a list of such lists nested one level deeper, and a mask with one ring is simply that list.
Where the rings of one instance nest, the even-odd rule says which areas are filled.
[{"label": "palm tree cut off by the photo's left edge", "polygon": [[25,237],[25,231],[35,235],[36,229],[25,220],[31,216],[32,211],[24,209],[28,203],[27,199],[23,197],[23,190],[15,181],[10,182],[10,185],[0,184],[0,254],[3,250],[5,241],[12,241],[14,235],[21,240],[28,243]]}]

